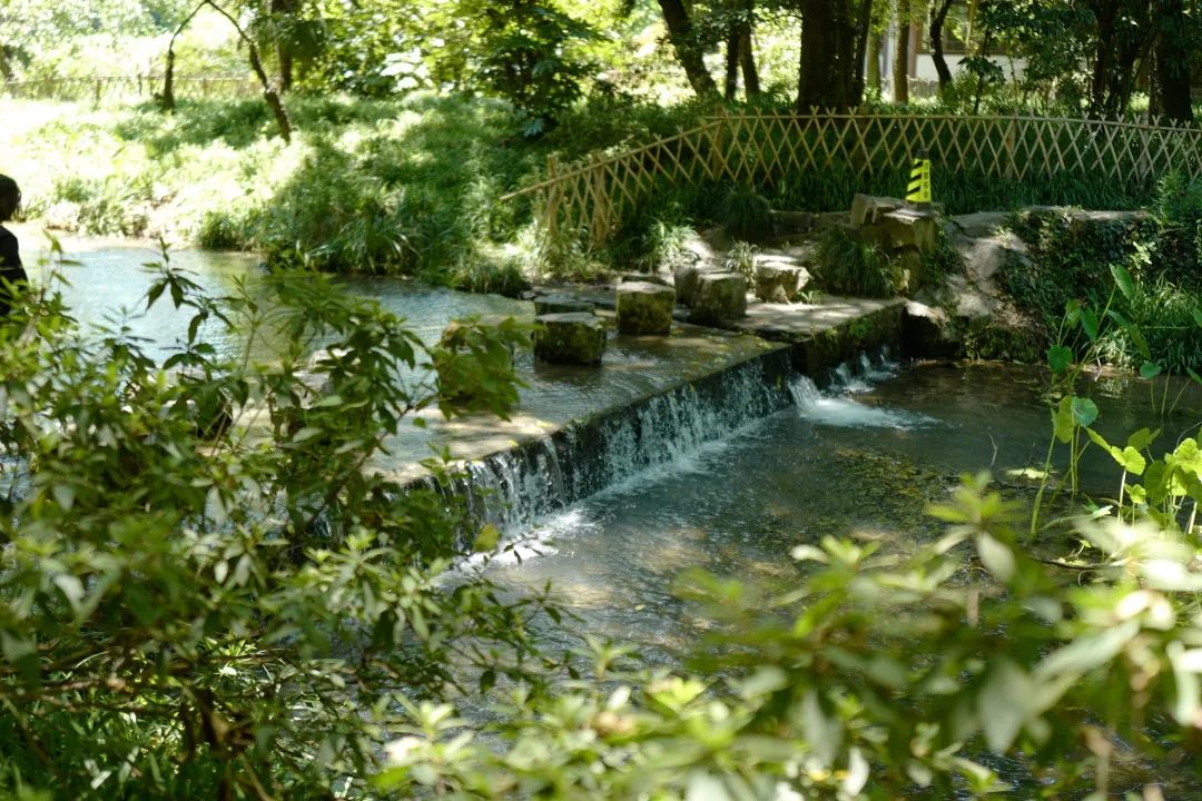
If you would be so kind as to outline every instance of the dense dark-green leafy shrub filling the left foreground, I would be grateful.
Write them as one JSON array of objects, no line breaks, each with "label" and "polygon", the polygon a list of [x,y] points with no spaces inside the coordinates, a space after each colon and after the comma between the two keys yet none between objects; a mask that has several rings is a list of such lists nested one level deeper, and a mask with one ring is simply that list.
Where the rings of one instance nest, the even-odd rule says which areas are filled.
[{"label": "dense dark-green leafy shrub filling the left foreground", "polygon": [[[168,301],[194,323],[162,364],[49,291],[0,328],[0,794],[361,793],[401,689],[528,674],[538,597],[447,585],[453,508],[368,470],[445,402],[423,365],[507,352],[505,325],[426,348],[311,273],[209,299],[163,267],[147,303]],[[214,354],[206,321],[245,352]],[[506,402],[481,364],[476,402]]]}]

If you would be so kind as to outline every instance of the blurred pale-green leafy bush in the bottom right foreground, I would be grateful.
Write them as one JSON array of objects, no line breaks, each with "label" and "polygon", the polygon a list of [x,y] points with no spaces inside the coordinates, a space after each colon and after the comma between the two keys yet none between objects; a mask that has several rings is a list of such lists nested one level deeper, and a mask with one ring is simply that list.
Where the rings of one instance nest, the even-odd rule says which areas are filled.
[{"label": "blurred pale-green leafy bush in the bottom right foreground", "polygon": [[[1202,477],[1196,444],[1178,452],[1174,474]],[[620,647],[594,642],[593,675],[549,699],[513,692],[488,740],[450,706],[410,706],[379,787],[892,800],[1160,784],[1155,769],[1119,767],[1184,757],[1191,736],[1197,545],[1174,526],[1082,519],[1075,532],[1097,561],[1082,586],[1072,563],[1029,554],[1014,507],[987,484],[965,477],[930,510],[947,533],[908,556],[828,537],[793,550],[799,576],[784,593],[685,575],[679,592],[712,621],[691,673],[631,669]],[[1164,770],[1179,777],[1166,791],[1194,787]]]}]

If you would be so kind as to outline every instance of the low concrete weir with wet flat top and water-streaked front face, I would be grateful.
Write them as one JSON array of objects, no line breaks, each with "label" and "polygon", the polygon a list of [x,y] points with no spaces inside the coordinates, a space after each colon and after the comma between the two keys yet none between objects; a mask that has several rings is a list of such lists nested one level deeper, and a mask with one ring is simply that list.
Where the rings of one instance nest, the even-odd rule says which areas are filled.
[{"label": "low concrete weir with wet flat top and water-streaked front face", "polygon": [[[752,304],[734,330],[677,323],[670,336],[623,336],[605,310],[612,299],[584,299],[611,328],[600,367],[531,365],[510,420],[430,413],[417,442],[394,447],[397,461],[381,467],[516,531],[792,405],[790,377],[821,379],[856,353],[898,342],[904,311],[900,301]],[[416,464],[430,447],[452,460],[448,486]]]}]

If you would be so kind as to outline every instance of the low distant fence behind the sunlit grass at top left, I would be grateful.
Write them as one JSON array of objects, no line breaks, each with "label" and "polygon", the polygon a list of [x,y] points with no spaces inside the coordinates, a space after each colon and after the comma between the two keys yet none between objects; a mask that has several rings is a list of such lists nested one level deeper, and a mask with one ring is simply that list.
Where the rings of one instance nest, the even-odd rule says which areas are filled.
[{"label": "low distant fence behind the sunlit grass at top left", "polygon": [[[0,80],[0,96],[18,100],[93,101],[149,98],[162,91],[161,74],[95,76],[90,78],[40,78]],[[173,82],[182,97],[252,97],[262,89],[242,76],[184,76]]]}]

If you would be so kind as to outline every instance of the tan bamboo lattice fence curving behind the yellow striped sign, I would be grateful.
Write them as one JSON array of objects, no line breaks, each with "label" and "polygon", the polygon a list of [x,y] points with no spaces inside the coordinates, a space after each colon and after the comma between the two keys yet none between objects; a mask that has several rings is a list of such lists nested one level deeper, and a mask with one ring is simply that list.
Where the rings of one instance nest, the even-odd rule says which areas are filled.
[{"label": "tan bamboo lattice fence curving behind the yellow striped sign", "polygon": [[[791,174],[852,168],[903,169],[927,151],[941,171],[1023,180],[1077,174],[1119,183],[1177,171],[1202,175],[1202,128],[1053,119],[815,112],[722,115],[689,131],[611,156],[560,165],[505,196],[529,197],[545,232],[605,241],[621,215],[665,185],[702,181],[772,185]],[[850,198],[849,198],[850,202]]]}]

